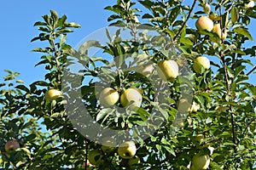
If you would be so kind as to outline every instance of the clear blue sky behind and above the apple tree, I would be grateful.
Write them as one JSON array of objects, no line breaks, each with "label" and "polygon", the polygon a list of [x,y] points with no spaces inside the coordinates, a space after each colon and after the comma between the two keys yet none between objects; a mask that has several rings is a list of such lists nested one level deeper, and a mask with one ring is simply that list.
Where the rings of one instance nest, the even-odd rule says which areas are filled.
[{"label": "clear blue sky behind and above the apple tree", "polygon": [[[1,1],[0,82],[3,82],[3,76],[6,75],[4,69],[20,72],[20,79],[27,85],[44,79],[44,66],[34,67],[40,60],[41,54],[31,51],[32,48],[44,47],[44,43],[30,41],[39,33],[33,24],[42,20],[42,15],[49,14],[50,9],[57,11],[60,16],[66,14],[67,21],[74,21],[82,26],[67,37],[67,43],[74,47],[86,35],[108,26],[107,19],[112,13],[103,8],[113,5],[115,2],[116,0]],[[256,40],[256,31],[252,29],[253,25],[256,25],[255,20],[251,23],[250,31],[253,31],[253,38]],[[247,45],[253,44],[255,45],[255,41],[249,42]],[[253,62],[256,63],[255,59]],[[253,79],[256,84],[256,77]]]}]

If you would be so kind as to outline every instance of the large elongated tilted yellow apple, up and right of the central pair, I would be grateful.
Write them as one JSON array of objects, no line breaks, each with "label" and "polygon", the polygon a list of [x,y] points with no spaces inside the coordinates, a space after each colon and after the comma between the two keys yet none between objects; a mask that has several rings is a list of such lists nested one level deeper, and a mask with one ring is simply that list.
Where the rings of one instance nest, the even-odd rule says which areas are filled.
[{"label": "large elongated tilted yellow apple, up and right of the central pair", "polygon": [[157,72],[161,79],[169,81],[177,77],[178,65],[172,59],[164,59],[158,63]]}]

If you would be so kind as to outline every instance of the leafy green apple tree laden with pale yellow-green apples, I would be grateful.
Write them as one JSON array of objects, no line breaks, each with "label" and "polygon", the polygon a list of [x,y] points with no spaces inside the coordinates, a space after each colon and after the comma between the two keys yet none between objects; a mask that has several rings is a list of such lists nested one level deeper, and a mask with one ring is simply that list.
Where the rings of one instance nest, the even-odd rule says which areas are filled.
[{"label": "leafy green apple tree laden with pale yellow-green apples", "polygon": [[[79,48],[67,44],[79,24],[45,14],[32,39],[48,43],[33,49],[44,80],[15,84],[18,73],[8,71],[2,84],[0,167],[255,168],[256,47],[247,26],[256,7],[191,3],[118,0],[97,32],[107,38]],[[9,140],[20,144],[11,153]]]}]

